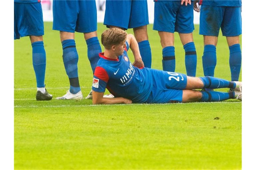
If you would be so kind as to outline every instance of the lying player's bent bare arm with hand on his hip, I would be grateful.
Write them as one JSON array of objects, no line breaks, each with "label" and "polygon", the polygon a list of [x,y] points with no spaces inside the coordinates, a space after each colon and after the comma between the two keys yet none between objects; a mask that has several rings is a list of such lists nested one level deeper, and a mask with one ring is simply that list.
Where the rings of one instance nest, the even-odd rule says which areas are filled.
[{"label": "lying player's bent bare arm with hand on his hip", "polygon": [[144,67],[144,63],[143,63],[141,55],[140,55],[139,45],[138,45],[138,42],[136,41],[135,37],[132,34],[128,34],[126,37],[126,41],[128,42],[128,44],[132,50],[132,53],[134,55],[133,65],[138,68]]}]

